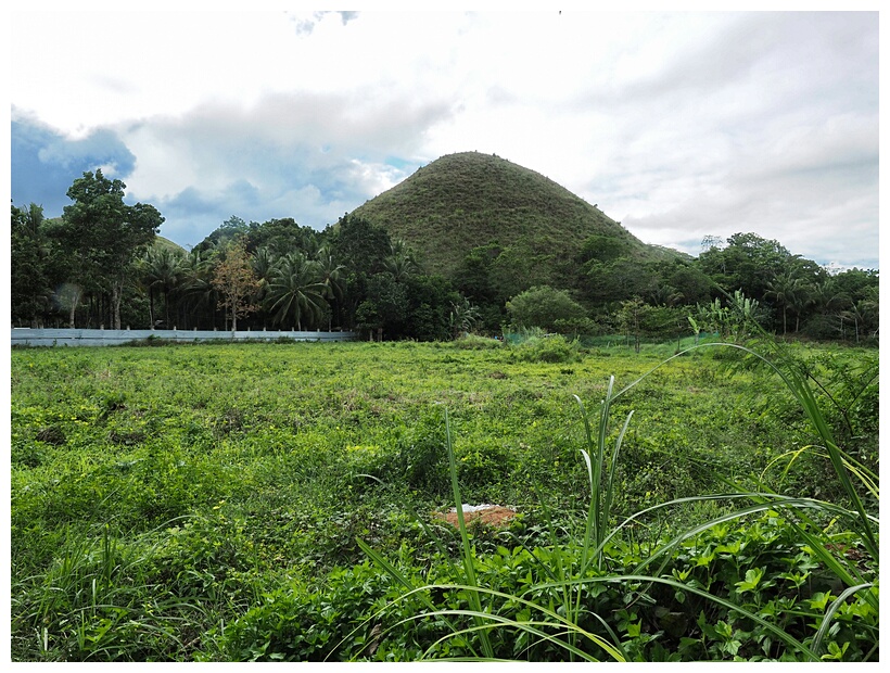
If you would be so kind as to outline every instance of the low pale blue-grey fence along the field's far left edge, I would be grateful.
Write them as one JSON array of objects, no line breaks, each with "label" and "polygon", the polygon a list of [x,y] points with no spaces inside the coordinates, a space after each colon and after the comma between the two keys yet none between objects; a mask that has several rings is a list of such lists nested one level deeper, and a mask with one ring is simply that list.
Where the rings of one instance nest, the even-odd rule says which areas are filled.
[{"label": "low pale blue-grey fence along the field's far left edge", "polygon": [[355,332],[297,332],[294,330],[48,330],[12,328],[13,346],[117,346],[149,338],[176,342],[198,341],[353,341]]}]

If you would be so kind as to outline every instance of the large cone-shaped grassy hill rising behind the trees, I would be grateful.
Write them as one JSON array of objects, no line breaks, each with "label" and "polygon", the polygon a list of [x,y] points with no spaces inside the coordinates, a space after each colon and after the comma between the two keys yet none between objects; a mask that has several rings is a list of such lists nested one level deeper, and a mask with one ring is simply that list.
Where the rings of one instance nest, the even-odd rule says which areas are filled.
[{"label": "large cone-shaped grassy hill rising behind the trees", "polygon": [[589,237],[600,236],[621,242],[634,256],[665,255],[539,173],[479,152],[442,156],[352,215],[404,239],[421,253],[428,272],[445,276],[472,249],[492,242],[565,259]]}]

